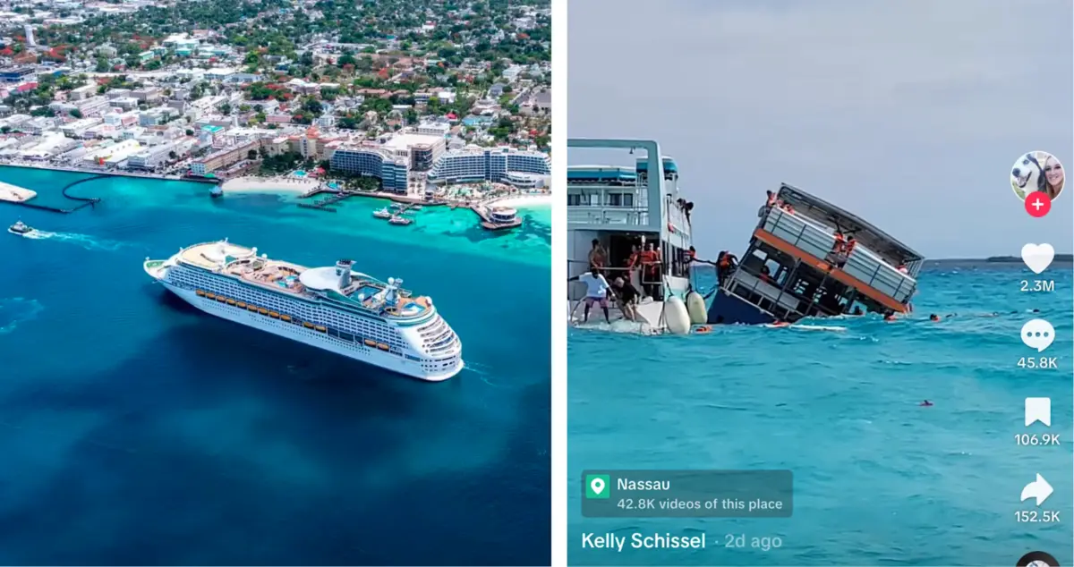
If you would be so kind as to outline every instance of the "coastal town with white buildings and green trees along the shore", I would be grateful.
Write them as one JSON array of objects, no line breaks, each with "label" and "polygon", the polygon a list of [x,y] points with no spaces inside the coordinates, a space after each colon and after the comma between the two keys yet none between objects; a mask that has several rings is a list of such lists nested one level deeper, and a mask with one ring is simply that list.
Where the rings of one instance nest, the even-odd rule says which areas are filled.
[{"label": "coastal town with white buildings and green trees along the shore", "polygon": [[[547,199],[548,0],[0,5],[0,165],[474,209]],[[206,191],[208,192],[208,191]],[[0,200],[34,192],[4,184]]]}]

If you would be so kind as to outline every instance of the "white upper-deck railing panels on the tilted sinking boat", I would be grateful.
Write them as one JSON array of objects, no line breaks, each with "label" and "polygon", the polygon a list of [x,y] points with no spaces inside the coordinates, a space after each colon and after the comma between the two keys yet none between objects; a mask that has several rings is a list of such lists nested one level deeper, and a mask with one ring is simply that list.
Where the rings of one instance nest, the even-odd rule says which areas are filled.
[{"label": "white upper-deck railing panels on the tilted sinking boat", "polygon": [[[822,260],[826,260],[836,246],[834,234],[796,213],[780,208],[769,209],[761,229]],[[899,303],[909,301],[917,287],[914,278],[863,246],[854,248],[842,270]]]}]

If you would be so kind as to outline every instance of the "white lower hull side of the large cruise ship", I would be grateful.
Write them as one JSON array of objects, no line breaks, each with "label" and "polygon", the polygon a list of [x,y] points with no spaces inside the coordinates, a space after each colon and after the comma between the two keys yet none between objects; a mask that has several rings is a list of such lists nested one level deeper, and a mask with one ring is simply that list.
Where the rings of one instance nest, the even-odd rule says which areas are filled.
[{"label": "white lower hull side of the large cruise ship", "polygon": [[277,336],[290,338],[291,340],[297,340],[299,343],[303,343],[311,347],[328,350],[330,352],[347,357],[348,359],[373,364],[374,366],[379,366],[412,378],[438,382],[451,378],[463,369],[463,361],[459,358],[455,364],[446,370],[437,374],[427,374],[421,367],[420,363],[403,359],[395,354],[381,351],[377,348],[367,347],[359,343],[343,340],[313,329],[307,329],[303,325],[296,325],[279,319],[272,319],[255,311],[248,311],[226,303],[199,296],[193,290],[172,286],[162,279],[159,279],[158,281],[168,288],[169,291],[183,299],[183,301],[209,315],[215,315],[221,319],[227,319],[246,326],[252,326],[261,331],[266,331]]}]

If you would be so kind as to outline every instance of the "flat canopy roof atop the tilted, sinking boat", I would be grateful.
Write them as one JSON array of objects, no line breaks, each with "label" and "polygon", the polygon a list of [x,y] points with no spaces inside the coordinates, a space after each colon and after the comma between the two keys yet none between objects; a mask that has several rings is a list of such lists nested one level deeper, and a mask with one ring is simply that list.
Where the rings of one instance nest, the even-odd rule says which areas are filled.
[{"label": "flat canopy roof atop the tilted, sinking boat", "polygon": [[840,208],[819,197],[807,193],[792,185],[780,186],[779,198],[784,203],[790,203],[797,213],[829,224],[843,234],[853,235],[862,246],[886,258],[902,262],[915,262],[925,257],[913,248],[897,241],[890,234],[880,230],[861,217]]}]

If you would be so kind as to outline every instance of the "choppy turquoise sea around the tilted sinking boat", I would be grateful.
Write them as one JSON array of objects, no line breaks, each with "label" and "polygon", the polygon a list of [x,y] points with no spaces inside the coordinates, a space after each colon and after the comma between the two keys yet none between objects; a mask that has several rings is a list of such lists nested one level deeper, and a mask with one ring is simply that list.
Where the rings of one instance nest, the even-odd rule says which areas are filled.
[{"label": "choppy turquoise sea around the tilted sinking boat", "polygon": [[[1022,293],[1022,279],[1054,279]],[[1070,265],[925,272],[915,317],[826,320],[844,332],[717,326],[709,335],[568,335],[568,554],[575,565],[1015,565],[1042,550],[1071,565],[1072,285]],[[1040,314],[1027,310],[1040,309]],[[957,314],[939,323],[930,312]],[[992,317],[992,314],[998,314]],[[1057,339],[1035,354],[1021,325]],[[807,321],[808,322],[808,321]],[[613,323],[614,328],[614,323]],[[1026,397],[1051,398],[1051,426],[1024,424]],[[935,405],[920,407],[923,399]],[[1019,433],[1058,447],[1018,447]],[[584,519],[583,469],[794,471],[787,519]],[[1041,474],[1056,525],[1019,524]],[[614,493],[612,493],[614,497]],[[582,550],[581,535],[706,534],[705,550]],[[745,535],[745,548],[725,547]],[[778,537],[763,551],[753,537]]]}]

